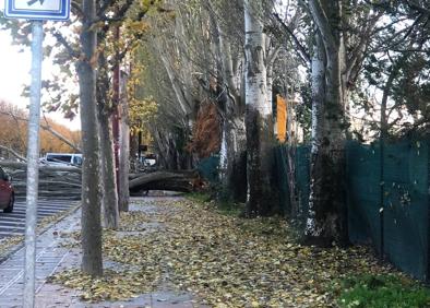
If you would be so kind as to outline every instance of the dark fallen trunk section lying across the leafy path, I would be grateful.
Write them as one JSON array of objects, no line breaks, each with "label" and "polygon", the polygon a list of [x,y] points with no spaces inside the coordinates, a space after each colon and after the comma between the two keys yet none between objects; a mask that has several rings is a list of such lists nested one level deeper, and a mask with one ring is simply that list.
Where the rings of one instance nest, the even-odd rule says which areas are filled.
[{"label": "dark fallen trunk section lying across the leafy path", "polygon": [[131,192],[146,190],[169,190],[191,192],[199,189],[203,181],[195,170],[188,171],[155,171],[144,174],[130,180]]}]

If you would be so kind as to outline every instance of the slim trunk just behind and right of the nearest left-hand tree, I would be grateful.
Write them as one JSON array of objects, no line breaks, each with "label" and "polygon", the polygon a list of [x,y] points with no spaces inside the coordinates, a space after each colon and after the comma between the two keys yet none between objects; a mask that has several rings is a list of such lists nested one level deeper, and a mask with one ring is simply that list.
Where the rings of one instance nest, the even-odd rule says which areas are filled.
[{"label": "slim trunk just behind and right of the nearest left-hand tree", "polygon": [[[99,108],[103,108],[100,105]],[[117,229],[119,225],[118,193],[114,157],[114,137],[110,116],[99,110],[99,129],[101,145],[103,179],[103,223],[108,229]]]}]

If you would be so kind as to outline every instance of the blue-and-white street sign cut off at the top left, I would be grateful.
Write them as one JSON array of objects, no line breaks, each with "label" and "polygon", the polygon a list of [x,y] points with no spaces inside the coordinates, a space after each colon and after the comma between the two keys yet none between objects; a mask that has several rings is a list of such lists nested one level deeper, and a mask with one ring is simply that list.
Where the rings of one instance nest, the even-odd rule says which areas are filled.
[{"label": "blue-and-white street sign cut off at the top left", "polygon": [[67,21],[70,0],[5,0],[4,16],[9,19]]}]

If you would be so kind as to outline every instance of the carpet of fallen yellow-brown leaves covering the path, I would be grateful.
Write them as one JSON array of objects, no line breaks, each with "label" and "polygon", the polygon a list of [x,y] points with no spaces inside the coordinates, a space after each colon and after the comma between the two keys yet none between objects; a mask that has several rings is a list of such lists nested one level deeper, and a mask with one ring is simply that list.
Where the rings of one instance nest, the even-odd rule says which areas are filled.
[{"label": "carpet of fallen yellow-brown leaves covering the path", "polygon": [[[362,247],[300,246],[279,218],[225,216],[188,200],[154,202],[121,216],[121,236],[105,233],[105,258],[130,270],[109,273],[103,287],[80,281],[77,271],[53,281],[80,287],[92,301],[130,298],[168,284],[215,307],[332,307],[336,298],[330,289],[338,287],[338,279],[393,272]],[[140,233],[154,226],[156,232]]]}]

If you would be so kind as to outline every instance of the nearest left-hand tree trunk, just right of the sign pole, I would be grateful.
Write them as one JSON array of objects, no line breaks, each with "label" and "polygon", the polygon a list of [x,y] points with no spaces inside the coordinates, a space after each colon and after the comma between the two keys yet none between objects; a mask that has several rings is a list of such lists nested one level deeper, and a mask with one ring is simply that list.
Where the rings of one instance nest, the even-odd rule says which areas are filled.
[{"label": "nearest left-hand tree trunk, just right of the sign pole", "polygon": [[82,125],[82,271],[92,276],[103,275],[99,143],[96,110],[96,19],[94,0],[83,0],[85,16],[82,25],[82,56],[76,63],[80,83]]}]

